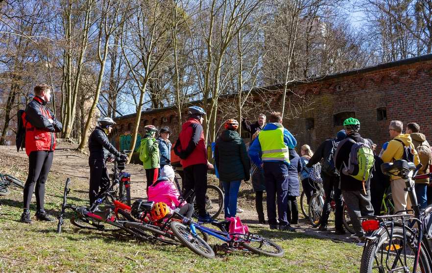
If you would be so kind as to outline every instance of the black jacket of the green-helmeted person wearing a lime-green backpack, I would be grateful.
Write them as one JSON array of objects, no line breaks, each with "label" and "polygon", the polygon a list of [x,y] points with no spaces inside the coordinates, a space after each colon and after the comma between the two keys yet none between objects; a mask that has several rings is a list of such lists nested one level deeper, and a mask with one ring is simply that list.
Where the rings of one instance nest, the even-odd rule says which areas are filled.
[{"label": "black jacket of the green-helmeted person wearing a lime-green backpack", "polygon": [[[365,143],[365,140],[361,138],[359,133],[352,133],[347,135],[347,138],[353,139],[355,142],[363,142]],[[335,154],[335,167],[337,170],[339,170],[340,173],[340,189],[345,191],[363,191],[363,185],[360,180],[357,180],[356,178],[352,177],[351,175],[343,174],[342,169],[344,167],[343,163],[345,163],[346,166],[348,166],[348,161],[350,158],[350,152],[351,147],[353,147],[354,143],[351,141],[346,142],[340,142],[338,144],[342,145],[341,147],[337,147],[339,150],[337,154]],[[356,172],[356,171],[354,171]],[[366,190],[369,190],[370,188],[370,179],[368,179],[365,182],[364,187]]]}]

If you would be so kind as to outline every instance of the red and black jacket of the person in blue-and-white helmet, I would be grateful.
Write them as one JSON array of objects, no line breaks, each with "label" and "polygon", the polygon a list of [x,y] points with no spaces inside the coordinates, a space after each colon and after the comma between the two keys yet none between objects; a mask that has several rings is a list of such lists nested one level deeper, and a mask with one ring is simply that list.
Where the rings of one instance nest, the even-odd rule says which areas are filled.
[{"label": "red and black jacket of the person in blue-and-white helmet", "polygon": [[204,131],[197,119],[191,118],[182,125],[174,152],[181,158],[183,168],[196,164],[207,164]]}]

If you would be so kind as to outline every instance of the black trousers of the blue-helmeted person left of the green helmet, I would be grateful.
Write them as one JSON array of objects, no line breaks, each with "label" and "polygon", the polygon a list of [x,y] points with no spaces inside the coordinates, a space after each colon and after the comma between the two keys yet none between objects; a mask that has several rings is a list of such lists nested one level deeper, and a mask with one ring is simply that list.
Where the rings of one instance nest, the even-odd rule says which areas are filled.
[{"label": "black trousers of the blue-helmeted person left of the green helmet", "polygon": [[321,173],[321,177],[323,180],[324,192],[326,195],[326,199],[324,201],[324,208],[321,216],[321,225],[327,225],[329,222],[329,216],[331,211],[332,202],[332,191],[334,190],[333,199],[336,202],[335,208],[335,227],[342,228],[342,214],[343,214],[343,206],[342,206],[342,192],[339,190],[339,176],[330,176]]}]

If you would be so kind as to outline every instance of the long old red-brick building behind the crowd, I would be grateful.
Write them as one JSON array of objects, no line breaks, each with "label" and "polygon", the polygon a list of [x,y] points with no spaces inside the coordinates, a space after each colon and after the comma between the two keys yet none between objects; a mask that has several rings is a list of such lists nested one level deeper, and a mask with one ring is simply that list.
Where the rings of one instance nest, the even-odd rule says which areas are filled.
[{"label": "long old red-brick building behind the crowd", "polygon": [[[275,99],[262,112],[280,111],[281,88],[265,88]],[[379,148],[388,141],[391,120],[420,124],[421,132],[432,141],[432,54],[317,77],[307,83],[295,82],[290,88],[298,95],[291,94],[286,100],[284,125],[295,135],[298,146],[310,144],[315,149],[324,139],[335,136],[347,117],[359,119],[360,134]],[[135,114],[117,118],[118,148],[129,147],[134,120]],[[142,132],[146,124],[168,126],[175,141],[178,122],[175,107],[144,111],[139,130]],[[219,117],[218,123],[222,122]]]}]

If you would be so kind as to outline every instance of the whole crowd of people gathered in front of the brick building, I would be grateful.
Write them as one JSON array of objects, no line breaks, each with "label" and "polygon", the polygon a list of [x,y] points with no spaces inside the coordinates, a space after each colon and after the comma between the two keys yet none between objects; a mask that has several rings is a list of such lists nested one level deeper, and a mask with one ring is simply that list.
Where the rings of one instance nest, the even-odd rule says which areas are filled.
[{"label": "whole crowd of people gathered in front of the brick building", "polygon": [[[45,181],[55,149],[55,133],[62,130],[62,124],[46,106],[50,92],[51,88],[47,85],[36,86],[35,97],[28,103],[21,117],[29,158],[29,172],[24,187],[24,211],[21,216],[24,223],[31,223],[29,204],[35,187],[36,218],[54,220],[44,210]],[[272,112],[268,123],[264,114],[260,114],[258,121],[253,124],[242,119],[243,128],[250,133],[248,145],[238,132],[239,122],[235,119],[227,120],[225,130],[214,143],[213,166],[207,158],[202,126],[206,113],[198,106],[189,107],[188,113],[188,120],[182,124],[174,145],[169,140],[168,128],[158,130],[153,125],[146,125],[138,152],[145,169],[148,199],[162,200],[168,208],[180,206],[183,214],[192,215],[192,205],[178,202],[179,192],[173,185],[174,165],[177,171],[181,171],[183,192],[194,191],[198,221],[203,223],[214,221],[206,211],[205,195],[208,170],[215,168],[224,189],[225,218],[235,217],[239,210],[237,203],[241,181],[252,180],[258,222],[268,223],[270,229],[295,231],[293,225],[298,224],[297,197],[300,196],[300,184],[309,202],[317,189],[317,180],[320,180],[325,192],[325,203],[318,230],[327,230],[333,199],[336,234],[345,234],[342,223],[344,201],[356,232],[353,238],[361,240],[364,233],[358,218],[382,213],[381,203],[388,187],[391,189],[396,212],[403,212],[411,206],[405,181],[398,176],[384,175],[381,164],[399,159],[415,165],[421,163],[423,167],[419,174],[429,172],[432,164],[431,147],[416,123],[409,123],[404,133],[402,122],[391,121],[388,128],[389,141],[382,145],[381,152],[377,154],[377,145],[360,135],[360,121],[348,118],[335,138],[325,140],[313,152],[307,144],[297,148],[297,140],[283,126],[281,114]],[[112,162],[116,158],[128,159],[126,154],[118,151],[109,141],[108,136],[115,124],[111,118],[102,118],[89,137],[91,204],[110,184],[106,162]],[[177,158],[175,164],[172,157]],[[319,169],[316,168],[318,165]],[[429,179],[419,179],[413,184],[421,208],[432,203],[431,187],[428,185]],[[267,220],[263,209],[264,191]],[[168,210],[165,207],[160,209]]]}]

